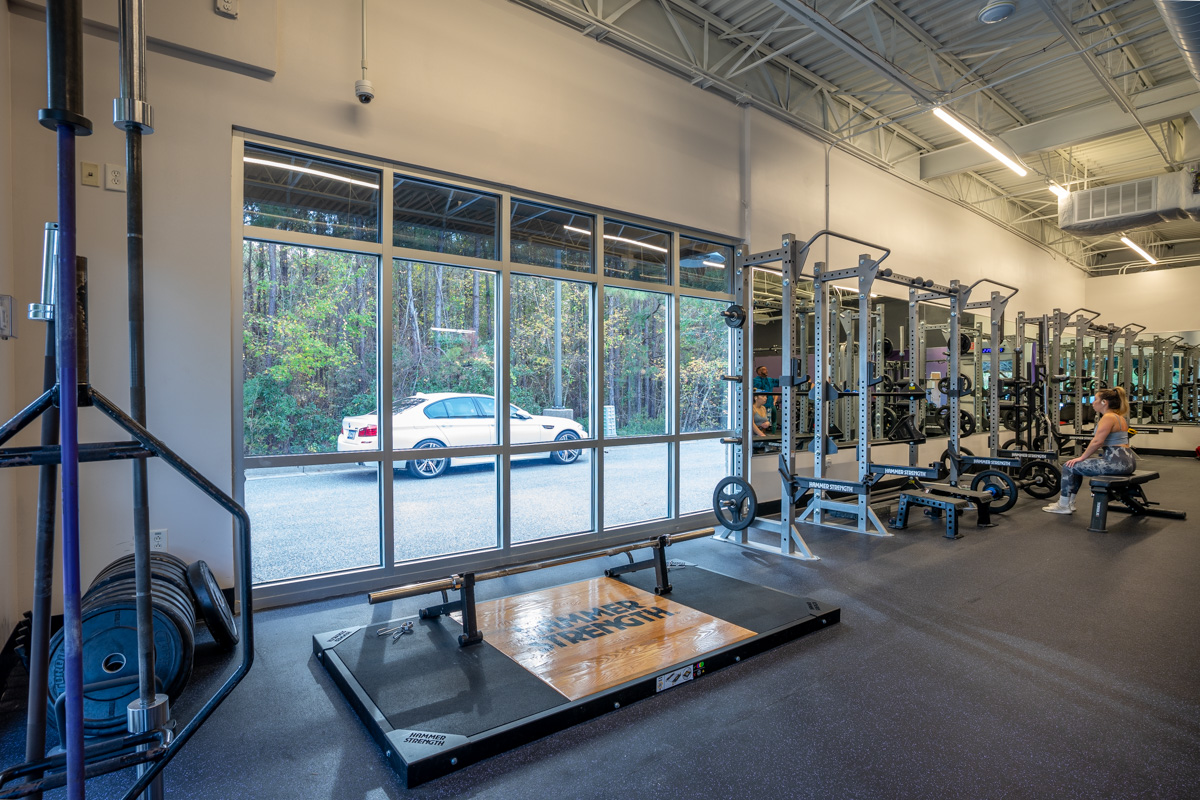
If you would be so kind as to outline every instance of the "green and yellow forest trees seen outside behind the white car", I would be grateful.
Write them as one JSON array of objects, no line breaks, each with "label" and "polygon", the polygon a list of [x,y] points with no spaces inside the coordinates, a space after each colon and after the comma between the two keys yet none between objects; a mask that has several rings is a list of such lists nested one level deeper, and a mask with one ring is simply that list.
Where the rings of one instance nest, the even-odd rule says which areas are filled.
[{"label": "green and yellow forest trees seen outside behind the white car", "polygon": [[[376,410],[377,265],[373,255],[245,242],[246,455],[332,452],[343,416]],[[496,272],[396,260],[392,294],[392,399],[494,393]],[[512,402],[533,414],[560,405],[589,432],[592,296],[589,283],[514,275],[503,337]],[[618,435],[667,432],[668,300],[655,291],[605,290],[604,404],[616,409]],[[679,303],[683,432],[727,427],[722,306],[692,297]]]}]

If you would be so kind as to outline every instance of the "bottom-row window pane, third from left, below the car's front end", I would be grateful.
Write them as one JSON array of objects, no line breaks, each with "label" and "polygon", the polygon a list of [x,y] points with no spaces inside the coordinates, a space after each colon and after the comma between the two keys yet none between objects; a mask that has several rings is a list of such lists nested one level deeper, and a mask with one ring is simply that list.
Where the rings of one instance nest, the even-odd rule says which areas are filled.
[{"label": "bottom-row window pane, third from left, below the car's front end", "polygon": [[592,530],[594,456],[594,450],[577,449],[512,459],[514,542]]}]

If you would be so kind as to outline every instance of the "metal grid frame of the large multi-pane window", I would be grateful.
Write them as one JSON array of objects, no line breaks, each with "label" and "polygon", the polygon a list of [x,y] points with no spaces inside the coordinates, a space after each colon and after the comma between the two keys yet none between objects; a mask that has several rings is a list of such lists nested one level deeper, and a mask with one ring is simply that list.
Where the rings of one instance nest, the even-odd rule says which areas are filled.
[{"label": "metal grid frame of the large multi-pane window", "polygon": [[[314,234],[300,234],[294,231],[276,230],[270,228],[250,227],[242,224],[242,173],[241,158],[245,146],[265,146],[275,150],[296,152],[314,158],[325,158],[346,163],[347,166],[361,167],[365,169],[378,169],[380,173],[380,186],[394,185],[395,175],[402,174],[415,180],[428,181],[443,186],[461,187],[492,194],[499,198],[499,231],[497,241],[497,259],[479,259],[466,255],[452,255],[449,253],[433,253],[410,248],[396,247],[392,243],[392,193],[380,191],[379,212],[379,242],[367,242],[359,240],[347,240],[320,236]],[[679,432],[679,297],[682,295],[733,301],[731,291],[707,291],[680,287],[679,281],[679,242],[682,237],[701,239],[714,243],[726,245],[737,248],[740,242],[733,237],[712,231],[703,231],[685,225],[670,224],[662,221],[647,219],[637,215],[626,212],[613,212],[607,209],[590,206],[586,203],[566,201],[562,198],[544,197],[536,192],[515,190],[488,185],[482,181],[463,180],[458,176],[450,176],[433,170],[416,169],[412,166],[401,164],[380,158],[365,158],[360,156],[348,156],[331,149],[323,149],[316,145],[298,144],[292,140],[280,140],[270,136],[235,130],[232,145],[234,162],[234,181],[232,191],[232,287],[230,295],[233,313],[230,323],[232,339],[232,369],[233,369],[233,469],[232,481],[234,497],[239,503],[245,501],[245,474],[247,469],[262,467],[300,467],[319,464],[353,464],[366,461],[374,462],[378,468],[378,499],[380,504],[380,531],[379,531],[379,564],[365,569],[346,570],[341,572],[322,573],[316,576],[296,577],[271,583],[256,584],[252,589],[256,607],[266,608],[272,606],[289,604],[306,600],[323,599],[336,594],[349,591],[367,591],[401,583],[432,579],[444,577],[450,573],[462,573],[473,570],[499,567],[510,564],[528,561],[541,558],[554,558],[581,551],[601,548],[625,543],[647,536],[695,530],[712,524],[712,512],[694,512],[680,515],[679,507],[679,444],[682,441],[715,439],[728,435],[730,431],[712,431],[698,433]],[[646,227],[668,234],[670,253],[667,255],[667,279],[665,283],[650,281],[635,281],[607,277],[604,270],[602,236],[593,235],[592,242],[592,272],[581,272],[570,269],[556,269],[524,264],[511,260],[511,245],[509,241],[508,219],[511,216],[511,203],[514,200],[528,201],[538,205],[546,205],[566,211],[577,211],[593,218],[593,230],[604,231],[606,219],[612,217],[619,222]],[[582,283],[589,287],[590,301],[590,353],[589,353],[589,416],[593,420],[589,431],[590,439],[578,443],[580,449],[586,450],[587,459],[592,470],[592,521],[590,531],[540,539],[529,542],[514,543],[511,541],[510,525],[510,476],[511,461],[515,457],[529,455],[547,455],[560,449],[556,443],[530,443],[514,445],[510,441],[510,425],[505,420],[509,415],[493,415],[498,429],[498,441],[486,446],[454,447],[445,451],[421,451],[421,457],[448,457],[460,458],[469,456],[488,456],[496,459],[497,476],[497,531],[498,541],[494,548],[475,551],[469,553],[455,553],[444,557],[421,559],[416,561],[395,561],[395,505],[392,497],[392,470],[395,462],[404,461],[406,457],[416,455],[416,451],[395,451],[394,444],[394,416],[392,414],[378,414],[380,449],[372,453],[325,453],[325,455],[295,455],[295,456],[245,456],[242,450],[242,362],[241,362],[241,330],[242,330],[242,287],[241,287],[241,252],[245,239],[258,241],[275,241],[284,245],[300,245],[307,247],[335,248],[341,251],[353,251],[364,254],[372,254],[379,259],[378,275],[378,320],[377,320],[377,398],[380,409],[394,407],[396,402],[406,398],[392,397],[384,387],[392,385],[392,361],[389,344],[392,338],[392,306],[395,302],[392,265],[395,259],[410,260],[428,264],[445,264],[449,266],[461,266],[479,269],[496,273],[496,337],[497,342],[505,341],[504,332],[510,329],[509,305],[512,276],[534,276],[560,281]],[[607,287],[629,288],[642,291],[654,291],[668,295],[670,318],[667,329],[667,423],[666,433],[649,437],[606,437],[604,431],[604,408],[601,398],[605,396],[604,386],[604,308],[605,289]],[[732,282],[730,285],[732,289]],[[506,347],[496,348],[494,368],[494,409],[511,408],[510,399],[510,363],[509,349]],[[511,411],[510,411],[511,413]],[[528,411],[527,411],[528,413]],[[664,519],[646,521],[619,528],[606,528],[604,523],[604,461],[605,450],[624,446],[640,446],[650,444],[668,445],[668,486],[667,486],[667,516]]]}]

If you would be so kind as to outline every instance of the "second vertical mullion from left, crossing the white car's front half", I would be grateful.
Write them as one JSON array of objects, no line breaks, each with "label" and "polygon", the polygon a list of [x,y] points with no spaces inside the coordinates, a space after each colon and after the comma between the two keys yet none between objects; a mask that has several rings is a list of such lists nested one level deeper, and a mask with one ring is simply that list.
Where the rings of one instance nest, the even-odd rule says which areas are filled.
[{"label": "second vertical mullion from left, crossing the white car's front half", "polygon": [[510,314],[512,299],[511,283],[512,275],[509,263],[509,217],[511,213],[512,197],[508,193],[500,196],[500,230],[499,230],[499,245],[500,245],[500,272],[496,277],[496,302],[499,306],[492,314],[493,329],[492,329],[492,341],[496,343],[492,347],[492,353],[496,354],[496,432],[499,434],[498,444],[500,445],[500,455],[498,461],[493,462],[493,469],[496,469],[496,499],[497,499],[497,535],[498,545],[502,552],[508,553],[512,547],[512,455],[509,447],[512,444],[512,431],[511,431],[511,417],[509,416],[509,402],[512,396],[511,391],[511,371],[509,368],[509,354],[511,348],[509,343],[512,341],[510,331]]}]

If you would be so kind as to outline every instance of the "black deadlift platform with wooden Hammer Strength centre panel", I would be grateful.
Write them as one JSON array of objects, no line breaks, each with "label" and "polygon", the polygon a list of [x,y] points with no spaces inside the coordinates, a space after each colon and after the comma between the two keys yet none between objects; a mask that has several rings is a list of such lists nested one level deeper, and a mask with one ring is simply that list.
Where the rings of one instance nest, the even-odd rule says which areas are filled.
[{"label": "black deadlift platform with wooden Hammer Strength centre panel", "polygon": [[313,651],[408,788],[839,621],[841,609],[701,567],[600,577],[446,616],[347,627]]}]

